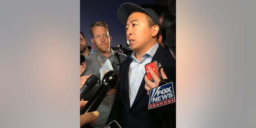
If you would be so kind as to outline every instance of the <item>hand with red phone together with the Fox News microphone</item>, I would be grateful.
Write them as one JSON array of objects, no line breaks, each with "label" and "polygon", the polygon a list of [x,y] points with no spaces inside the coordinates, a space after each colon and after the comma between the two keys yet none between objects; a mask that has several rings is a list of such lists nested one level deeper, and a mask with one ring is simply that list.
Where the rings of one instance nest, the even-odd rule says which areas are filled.
[{"label": "hand with red phone together with the Fox News microphone", "polygon": [[[163,128],[175,126],[176,122],[176,86],[169,80],[164,73],[163,68],[160,69],[162,80],[152,70],[147,68],[154,79],[154,82],[145,75],[145,89],[148,91],[149,103],[148,112],[152,112],[161,120]],[[153,88],[153,89],[152,89]],[[174,127],[175,128],[175,127]]]}]

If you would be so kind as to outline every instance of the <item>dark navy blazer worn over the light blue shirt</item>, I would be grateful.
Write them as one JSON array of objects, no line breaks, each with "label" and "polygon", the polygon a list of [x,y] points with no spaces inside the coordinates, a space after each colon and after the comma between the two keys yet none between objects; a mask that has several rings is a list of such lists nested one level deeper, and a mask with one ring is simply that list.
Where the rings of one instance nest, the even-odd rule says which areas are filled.
[{"label": "dark navy blazer worn over the light blue shirt", "polygon": [[[176,60],[169,50],[159,45],[152,58],[153,60],[157,60],[164,68],[167,77],[176,82]],[[127,58],[122,62],[116,98],[106,124],[116,120],[122,128],[161,128],[161,121],[156,118],[154,113],[147,111],[149,96],[144,88],[144,79],[140,84],[134,103],[130,107],[128,72],[131,62],[131,58]]]}]

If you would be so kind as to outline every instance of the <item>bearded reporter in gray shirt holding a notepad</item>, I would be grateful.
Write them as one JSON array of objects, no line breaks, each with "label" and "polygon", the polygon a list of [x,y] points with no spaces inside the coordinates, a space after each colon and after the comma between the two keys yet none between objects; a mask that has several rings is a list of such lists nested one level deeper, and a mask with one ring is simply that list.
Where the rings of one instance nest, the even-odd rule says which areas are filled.
[{"label": "bearded reporter in gray shirt holding a notepad", "polygon": [[[86,69],[83,76],[89,76],[90,74],[96,74],[100,78],[100,68],[102,68],[103,64],[106,60],[110,60],[110,63],[113,65],[114,63],[117,65],[117,70],[126,59],[126,55],[122,53],[115,53],[110,48],[110,42],[112,37],[109,34],[108,25],[105,22],[98,21],[94,22],[90,27],[90,33],[92,35],[92,43],[96,46],[97,51],[89,56],[86,56]],[[100,82],[101,83],[101,80]],[[84,97],[84,100],[88,100],[94,92],[99,88],[100,84],[96,84]],[[108,115],[112,108],[112,104],[114,102],[114,98],[116,95],[116,88],[112,88],[109,90],[104,100],[98,107],[97,111],[100,112],[100,116],[98,117],[98,121],[95,124],[90,124],[88,128],[103,128],[108,119]]]}]

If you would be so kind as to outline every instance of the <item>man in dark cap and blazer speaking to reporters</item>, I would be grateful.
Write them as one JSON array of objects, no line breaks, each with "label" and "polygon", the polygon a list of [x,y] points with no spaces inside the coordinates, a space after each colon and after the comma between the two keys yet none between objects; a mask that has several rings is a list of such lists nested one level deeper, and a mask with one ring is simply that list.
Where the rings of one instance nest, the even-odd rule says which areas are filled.
[{"label": "man in dark cap and blazer speaking to reporters", "polygon": [[[147,110],[144,66],[157,60],[172,79],[176,78],[176,62],[170,51],[157,43],[158,15],[150,8],[124,3],[118,9],[118,19],[126,25],[126,38],[133,53],[120,67],[120,82],[107,124],[116,120],[122,128],[161,128],[161,121]],[[170,116],[175,117],[175,113]]]}]

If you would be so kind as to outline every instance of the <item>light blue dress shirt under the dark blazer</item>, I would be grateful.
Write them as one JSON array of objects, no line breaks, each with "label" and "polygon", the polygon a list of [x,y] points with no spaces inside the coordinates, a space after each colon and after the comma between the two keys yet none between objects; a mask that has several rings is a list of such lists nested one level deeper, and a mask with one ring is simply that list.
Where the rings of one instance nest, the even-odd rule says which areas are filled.
[{"label": "light blue dress shirt under the dark blazer", "polygon": [[132,62],[129,67],[129,98],[130,98],[130,107],[132,106],[137,92],[140,88],[140,84],[144,79],[146,73],[145,65],[152,61],[154,54],[158,48],[159,44],[156,43],[148,52],[142,55],[141,62],[136,58],[135,53],[133,52]]}]

